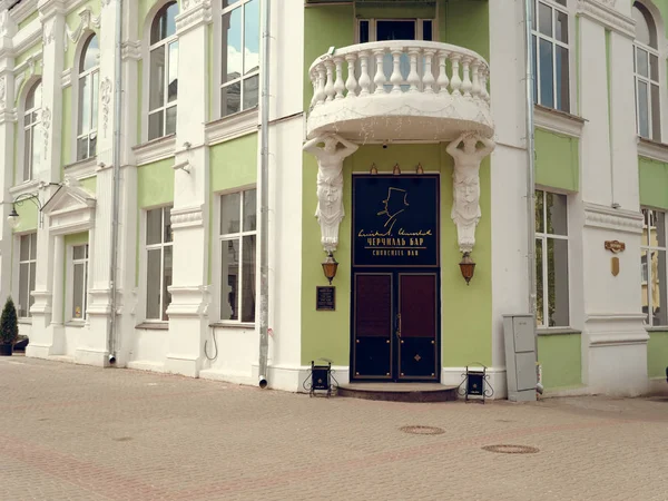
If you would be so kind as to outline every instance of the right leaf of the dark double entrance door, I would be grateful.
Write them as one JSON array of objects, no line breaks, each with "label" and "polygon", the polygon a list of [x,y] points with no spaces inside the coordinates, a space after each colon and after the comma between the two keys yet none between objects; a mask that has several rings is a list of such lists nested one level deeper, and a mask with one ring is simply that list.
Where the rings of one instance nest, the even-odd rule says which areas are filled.
[{"label": "right leaf of the dark double entrance door", "polygon": [[436,380],[436,274],[399,275],[399,379]]}]

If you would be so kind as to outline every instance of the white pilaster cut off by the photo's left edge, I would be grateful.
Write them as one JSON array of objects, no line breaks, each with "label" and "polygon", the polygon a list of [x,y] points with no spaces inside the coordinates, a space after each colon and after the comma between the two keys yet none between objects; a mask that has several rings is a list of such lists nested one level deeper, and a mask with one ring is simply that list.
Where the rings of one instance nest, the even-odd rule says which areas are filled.
[{"label": "white pilaster cut off by the photo's left edge", "polygon": [[[10,19],[7,8],[7,1],[0,2],[0,161],[4,166],[0,174],[0,193],[2,194],[2,200],[6,202],[11,199],[9,188],[13,183],[13,169],[9,166],[14,165],[14,127],[17,121],[17,114],[13,109],[14,58],[11,41],[17,27]],[[11,283],[13,234],[7,223],[11,208],[11,204],[0,206],[0,307],[4,305]]]}]

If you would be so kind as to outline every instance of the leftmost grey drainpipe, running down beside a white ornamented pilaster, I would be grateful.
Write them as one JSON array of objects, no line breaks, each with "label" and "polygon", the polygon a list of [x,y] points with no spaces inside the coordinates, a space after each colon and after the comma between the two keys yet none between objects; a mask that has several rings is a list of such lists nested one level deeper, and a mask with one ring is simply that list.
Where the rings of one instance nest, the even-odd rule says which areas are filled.
[{"label": "leftmost grey drainpipe, running down beside a white ornamented pilaster", "polygon": [[116,2],[116,57],[115,57],[115,96],[114,96],[114,147],[111,163],[114,165],[114,186],[112,186],[112,208],[111,208],[111,267],[109,269],[109,279],[111,283],[111,316],[109,318],[109,363],[116,363],[116,337],[117,337],[117,283],[118,283],[118,214],[120,198],[120,114],[122,111],[122,65],[121,65],[121,40],[122,40],[122,1]]}]

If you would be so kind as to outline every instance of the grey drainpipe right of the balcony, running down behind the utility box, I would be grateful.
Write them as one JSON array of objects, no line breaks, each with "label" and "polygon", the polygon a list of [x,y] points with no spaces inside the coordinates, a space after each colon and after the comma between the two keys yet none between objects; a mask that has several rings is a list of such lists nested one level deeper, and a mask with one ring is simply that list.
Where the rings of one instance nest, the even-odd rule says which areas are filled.
[{"label": "grey drainpipe right of the balcony, running down behind the utility box", "polygon": [[[529,313],[536,316],[536,198],[534,198],[534,143],[533,143],[533,57],[531,50],[533,0],[524,0],[525,70],[527,70],[527,276],[529,279]],[[536,327],[533,328],[536,335]],[[538,354],[538,340],[536,340]]]}]

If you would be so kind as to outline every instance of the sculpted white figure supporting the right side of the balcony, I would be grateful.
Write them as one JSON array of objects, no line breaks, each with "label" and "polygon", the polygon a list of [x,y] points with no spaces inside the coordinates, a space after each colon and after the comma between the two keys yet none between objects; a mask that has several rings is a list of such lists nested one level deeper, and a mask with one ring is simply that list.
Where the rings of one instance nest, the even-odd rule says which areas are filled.
[{"label": "sculpted white figure supporting the right side of the balcony", "polygon": [[[479,148],[480,143],[482,147]],[[451,217],[456,225],[458,242],[462,253],[471,253],[475,245],[475,227],[481,216],[480,163],[494,150],[495,146],[493,140],[481,137],[477,132],[464,132],[446,148],[450,156],[454,158]]]}]

